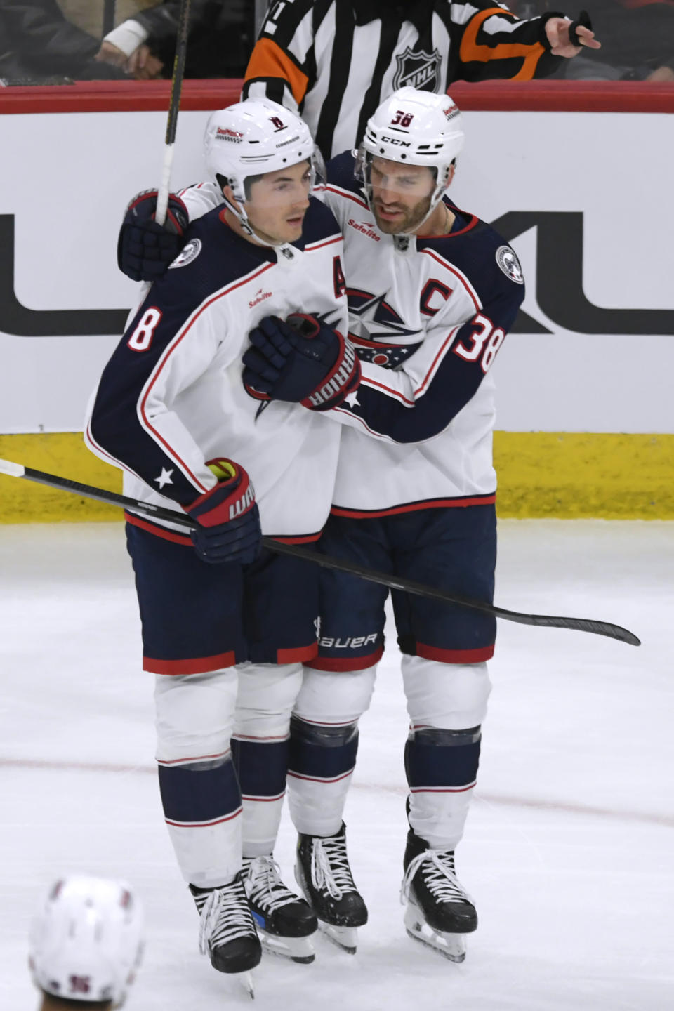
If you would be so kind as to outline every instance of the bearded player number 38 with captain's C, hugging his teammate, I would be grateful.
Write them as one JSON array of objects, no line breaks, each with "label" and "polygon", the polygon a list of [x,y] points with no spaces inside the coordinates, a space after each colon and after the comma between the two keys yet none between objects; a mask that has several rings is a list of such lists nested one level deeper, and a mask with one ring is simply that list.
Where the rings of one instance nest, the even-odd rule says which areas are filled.
[{"label": "bearded player number 38 with captain's C, hugging his teammate", "polygon": [[[328,412],[356,431],[343,438],[321,547],[490,601],[488,371],[523,298],[523,279],[507,244],[447,198],[463,145],[460,119],[446,96],[403,89],[369,122],[358,166],[351,154],[328,165],[324,198],[345,233],[344,283],[363,377],[357,394]],[[200,186],[184,199],[194,216],[217,197]],[[143,268],[135,227],[127,216],[126,237],[135,243],[120,243],[127,273]],[[290,398],[289,337],[270,319],[253,335],[256,353],[247,364],[258,376],[251,383],[266,383],[268,395]],[[263,376],[258,356],[265,353]],[[279,354],[288,355],[283,375],[273,371]],[[368,363],[390,371],[382,379]],[[319,657],[309,661],[292,723],[291,811],[300,832],[298,877],[319,918],[353,950],[353,928],[367,913],[349,868],[342,811],[358,719],[382,652],[386,590],[336,574],[322,579]],[[411,721],[406,922],[419,939],[460,959],[463,944],[453,935],[475,929],[477,917],[456,878],[454,849],[477,773],[495,627],[405,594],[394,593],[394,605]]]}]

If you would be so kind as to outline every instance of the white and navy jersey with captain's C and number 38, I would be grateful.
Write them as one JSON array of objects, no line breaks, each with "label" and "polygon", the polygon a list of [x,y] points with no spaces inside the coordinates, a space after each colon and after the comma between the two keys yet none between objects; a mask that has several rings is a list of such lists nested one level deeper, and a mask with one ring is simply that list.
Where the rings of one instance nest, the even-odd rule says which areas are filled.
[{"label": "white and navy jersey with captain's C and number 38", "polygon": [[[524,297],[517,257],[449,199],[449,236],[379,232],[354,167],[351,153],[332,159],[322,191],[345,238],[342,285],[363,369],[357,393],[325,412],[347,427],[332,512],[493,502],[488,373]],[[210,183],[181,196],[190,218],[219,202]]]}]

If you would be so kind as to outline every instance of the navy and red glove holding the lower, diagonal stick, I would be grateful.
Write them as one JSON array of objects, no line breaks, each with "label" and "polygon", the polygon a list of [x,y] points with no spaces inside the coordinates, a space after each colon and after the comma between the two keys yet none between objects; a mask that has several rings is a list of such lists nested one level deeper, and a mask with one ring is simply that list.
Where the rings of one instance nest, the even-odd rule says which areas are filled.
[{"label": "navy and red glove holding the lower, diagonal stick", "polygon": [[191,504],[186,513],[199,526],[190,531],[192,543],[205,562],[248,565],[260,554],[262,530],[249,475],[237,463],[218,457],[207,460],[217,484]]}]

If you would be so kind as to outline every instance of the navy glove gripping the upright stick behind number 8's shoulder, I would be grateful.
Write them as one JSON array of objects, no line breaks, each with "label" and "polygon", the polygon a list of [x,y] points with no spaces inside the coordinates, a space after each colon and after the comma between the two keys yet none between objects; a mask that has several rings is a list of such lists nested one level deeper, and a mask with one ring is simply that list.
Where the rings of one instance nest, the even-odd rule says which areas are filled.
[{"label": "navy glove gripping the upright stick behind number 8's shoulder", "polygon": [[132,281],[155,281],[165,273],[183,246],[189,223],[187,207],[175,193],[169,195],[164,224],[155,220],[157,190],[133,197],[119,231],[117,266]]}]

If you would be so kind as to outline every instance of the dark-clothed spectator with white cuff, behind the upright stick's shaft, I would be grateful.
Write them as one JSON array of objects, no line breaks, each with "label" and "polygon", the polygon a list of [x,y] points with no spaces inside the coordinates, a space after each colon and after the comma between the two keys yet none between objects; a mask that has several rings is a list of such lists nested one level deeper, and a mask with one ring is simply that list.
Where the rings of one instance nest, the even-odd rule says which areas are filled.
[{"label": "dark-clothed spectator with white cuff, behind the upright stick's shaft", "polygon": [[[192,0],[186,77],[243,77],[253,48],[254,0]],[[97,60],[138,79],[171,77],[180,0],[165,0],[113,28]]]}]

